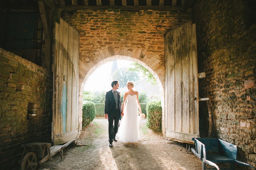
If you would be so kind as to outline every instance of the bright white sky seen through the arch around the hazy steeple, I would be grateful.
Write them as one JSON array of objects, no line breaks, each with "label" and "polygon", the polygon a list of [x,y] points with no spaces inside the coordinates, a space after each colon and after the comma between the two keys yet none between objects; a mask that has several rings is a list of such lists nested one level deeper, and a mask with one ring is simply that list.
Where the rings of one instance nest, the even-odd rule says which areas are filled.
[{"label": "bright white sky seen through the arch around the hazy steeple", "polygon": [[[117,67],[118,69],[130,67],[131,63],[133,62],[128,60],[117,60]],[[113,61],[110,61],[97,68],[87,80],[84,90],[92,92],[111,90],[111,82],[113,81],[111,77],[112,64]]]}]

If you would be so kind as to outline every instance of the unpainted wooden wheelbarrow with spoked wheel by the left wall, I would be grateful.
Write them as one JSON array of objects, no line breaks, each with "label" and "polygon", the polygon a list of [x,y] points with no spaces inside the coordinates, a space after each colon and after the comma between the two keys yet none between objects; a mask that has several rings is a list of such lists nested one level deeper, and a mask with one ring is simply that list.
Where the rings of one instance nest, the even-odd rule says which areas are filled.
[{"label": "unpainted wooden wheelbarrow with spoked wheel by the left wall", "polygon": [[[54,156],[58,152],[61,155],[61,161],[63,161],[63,152],[65,151],[65,148],[75,140],[76,139],[73,139],[64,145],[56,145],[52,147],[50,143],[22,144],[21,147],[24,148],[24,151],[20,160],[21,169],[36,170],[39,164],[41,165],[48,159],[52,161],[52,156]],[[41,158],[41,160],[38,161],[38,158]]]}]

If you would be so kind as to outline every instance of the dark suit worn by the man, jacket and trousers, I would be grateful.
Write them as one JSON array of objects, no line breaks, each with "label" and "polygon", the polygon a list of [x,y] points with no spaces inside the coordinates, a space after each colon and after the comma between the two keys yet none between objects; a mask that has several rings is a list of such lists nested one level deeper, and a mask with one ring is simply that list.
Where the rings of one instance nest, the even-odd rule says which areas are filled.
[{"label": "dark suit worn by the man, jacket and trousers", "polygon": [[[117,91],[114,91],[117,92]],[[119,127],[119,120],[121,120],[121,96],[120,93],[117,92],[118,104],[116,105],[116,100],[113,94],[113,91],[110,90],[106,93],[105,96],[105,106],[104,106],[104,114],[108,114],[109,121],[109,143],[113,142],[114,137],[117,134]],[[114,126],[113,126],[114,122]]]}]

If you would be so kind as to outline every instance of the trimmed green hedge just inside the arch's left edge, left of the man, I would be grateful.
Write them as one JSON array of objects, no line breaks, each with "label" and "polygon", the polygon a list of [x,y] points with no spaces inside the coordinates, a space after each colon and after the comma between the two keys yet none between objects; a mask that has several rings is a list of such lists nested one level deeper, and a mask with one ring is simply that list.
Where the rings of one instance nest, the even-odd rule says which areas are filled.
[{"label": "trimmed green hedge just inside the arch's left edge, left of the man", "polygon": [[84,102],[82,111],[83,111],[82,126],[85,127],[87,124],[92,122],[93,119],[95,118],[94,102]]}]

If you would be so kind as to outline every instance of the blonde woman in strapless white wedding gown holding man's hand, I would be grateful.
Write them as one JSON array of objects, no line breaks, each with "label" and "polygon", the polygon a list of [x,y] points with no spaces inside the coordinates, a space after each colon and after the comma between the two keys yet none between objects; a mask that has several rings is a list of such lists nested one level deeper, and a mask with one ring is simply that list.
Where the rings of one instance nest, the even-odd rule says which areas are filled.
[{"label": "blonde woman in strapless white wedding gown holding man's hand", "polygon": [[121,113],[123,118],[117,132],[119,140],[124,143],[137,143],[139,140],[138,108],[139,114],[142,114],[142,111],[139,104],[139,93],[137,91],[134,91],[132,89],[133,87],[134,84],[132,82],[127,83],[128,91],[124,93]]}]

